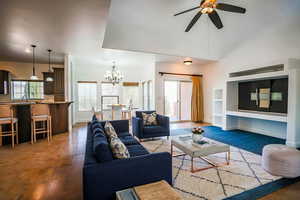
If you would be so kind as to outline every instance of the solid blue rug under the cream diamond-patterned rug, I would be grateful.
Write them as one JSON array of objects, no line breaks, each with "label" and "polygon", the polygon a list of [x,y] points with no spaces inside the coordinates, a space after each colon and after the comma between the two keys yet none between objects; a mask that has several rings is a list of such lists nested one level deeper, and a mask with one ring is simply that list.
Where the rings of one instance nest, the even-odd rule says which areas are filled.
[{"label": "solid blue rug under the cream diamond-patterned rug", "polygon": [[[204,136],[231,146],[244,149],[246,151],[262,155],[262,150],[265,145],[268,144],[285,144],[285,140],[261,135],[257,133],[251,133],[241,130],[223,131],[219,127],[206,126],[203,127],[205,133]],[[174,129],[171,130],[171,136],[191,134],[191,129]],[[279,190],[285,186],[300,181],[300,177],[295,179],[282,178],[277,181],[259,186],[257,188],[242,192],[235,196],[226,198],[226,200],[248,200],[259,199],[266,196],[276,190]]]}]

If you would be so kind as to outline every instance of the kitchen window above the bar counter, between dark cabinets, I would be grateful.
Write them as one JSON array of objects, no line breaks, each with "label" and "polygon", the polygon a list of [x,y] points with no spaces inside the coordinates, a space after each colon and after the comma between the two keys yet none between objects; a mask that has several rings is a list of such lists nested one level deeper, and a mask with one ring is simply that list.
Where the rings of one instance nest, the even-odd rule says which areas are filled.
[{"label": "kitchen window above the bar counter, between dark cabinets", "polygon": [[12,80],[13,100],[44,99],[44,82],[32,80]]}]

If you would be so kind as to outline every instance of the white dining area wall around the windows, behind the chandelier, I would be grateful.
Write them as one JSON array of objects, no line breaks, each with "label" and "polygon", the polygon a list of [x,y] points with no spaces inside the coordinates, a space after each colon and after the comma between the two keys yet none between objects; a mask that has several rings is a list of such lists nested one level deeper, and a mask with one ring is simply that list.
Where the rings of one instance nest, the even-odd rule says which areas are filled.
[{"label": "white dining area wall around the windows, behind the chandelier", "polygon": [[[74,122],[86,122],[91,119],[91,112],[78,111],[77,82],[78,81],[105,81],[104,74],[112,69],[112,62],[109,60],[90,60],[78,56],[73,56],[73,99],[75,102],[75,120]],[[124,75],[124,82],[143,82],[152,80],[154,82],[154,57],[145,59],[136,57],[135,61],[116,62],[117,69]],[[120,94],[122,95],[122,94]],[[98,96],[99,97],[99,96]],[[122,96],[120,101],[122,100]],[[127,103],[127,102],[121,102]]]}]

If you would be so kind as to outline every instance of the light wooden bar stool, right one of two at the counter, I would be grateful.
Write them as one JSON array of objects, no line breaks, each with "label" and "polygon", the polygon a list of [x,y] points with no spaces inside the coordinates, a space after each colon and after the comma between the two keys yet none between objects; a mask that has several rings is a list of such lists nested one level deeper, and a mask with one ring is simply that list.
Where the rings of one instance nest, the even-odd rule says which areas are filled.
[{"label": "light wooden bar stool, right one of two at the counter", "polygon": [[[48,104],[32,104],[31,106],[31,144],[36,142],[37,134],[47,134],[48,142],[52,140],[51,116]],[[41,127],[37,127],[37,122]]]}]

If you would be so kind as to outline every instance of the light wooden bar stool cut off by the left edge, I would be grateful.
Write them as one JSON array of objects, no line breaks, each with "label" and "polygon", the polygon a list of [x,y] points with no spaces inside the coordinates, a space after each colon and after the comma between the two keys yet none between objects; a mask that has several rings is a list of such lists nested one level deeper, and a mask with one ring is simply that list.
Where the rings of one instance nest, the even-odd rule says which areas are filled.
[{"label": "light wooden bar stool cut off by the left edge", "polygon": [[[2,125],[9,125],[9,131],[2,131]],[[11,146],[15,147],[19,143],[18,136],[18,119],[14,117],[14,109],[12,105],[0,105],[0,145],[2,145],[2,137],[11,136]]]}]

